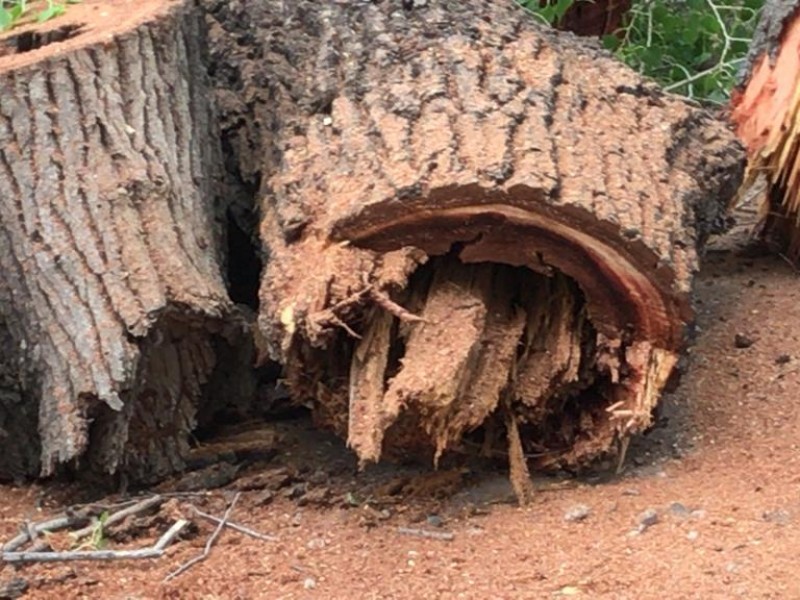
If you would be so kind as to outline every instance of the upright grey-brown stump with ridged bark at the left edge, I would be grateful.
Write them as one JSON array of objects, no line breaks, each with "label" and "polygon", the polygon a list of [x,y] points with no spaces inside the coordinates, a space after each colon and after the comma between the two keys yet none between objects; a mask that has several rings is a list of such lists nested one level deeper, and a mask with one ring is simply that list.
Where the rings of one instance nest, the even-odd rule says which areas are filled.
[{"label": "upright grey-brown stump with ridged bark at the left edge", "polygon": [[205,28],[178,1],[65,19],[0,38],[0,477],[147,480],[182,466],[237,335]]}]

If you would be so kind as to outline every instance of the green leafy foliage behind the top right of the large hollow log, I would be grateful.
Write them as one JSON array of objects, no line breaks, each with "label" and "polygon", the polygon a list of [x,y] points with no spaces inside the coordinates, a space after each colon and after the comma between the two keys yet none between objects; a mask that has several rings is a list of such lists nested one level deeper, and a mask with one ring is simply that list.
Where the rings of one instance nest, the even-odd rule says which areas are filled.
[{"label": "green leafy foliage behind the top right of the large hollow log", "polygon": [[[519,0],[557,25],[577,1]],[[668,91],[724,103],[749,50],[764,0],[633,0],[625,25],[603,39],[628,65]]]}]

